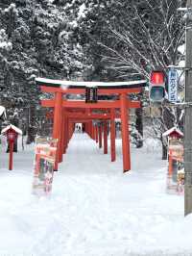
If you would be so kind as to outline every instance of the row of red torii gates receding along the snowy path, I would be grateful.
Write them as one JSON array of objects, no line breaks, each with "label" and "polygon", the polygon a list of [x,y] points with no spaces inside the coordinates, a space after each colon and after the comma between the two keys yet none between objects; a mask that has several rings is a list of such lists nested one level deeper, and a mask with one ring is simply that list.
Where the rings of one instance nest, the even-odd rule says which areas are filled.
[{"label": "row of red torii gates receding along the snowy path", "polygon": [[[58,139],[58,153],[55,168],[62,162],[62,154],[66,152],[75,123],[84,123],[85,132],[91,139],[99,142],[102,147],[102,130],[104,130],[104,153],[108,153],[108,121],[110,122],[110,154],[111,162],[115,161],[115,118],[121,118],[122,153],[124,172],[131,169],[129,110],[140,108],[139,101],[132,101],[128,95],[139,93],[146,86],[146,81],[133,82],[74,82],[36,78],[36,84],[41,91],[54,93],[53,99],[41,100],[42,107],[53,108],[49,117],[54,119],[53,138]],[[98,95],[117,95],[116,100],[98,100],[96,103],[86,103],[84,100],[71,100],[63,97],[66,94],[85,94],[85,89],[97,87]],[[100,111],[100,113],[95,113]],[[104,123],[94,126],[92,120]]]}]

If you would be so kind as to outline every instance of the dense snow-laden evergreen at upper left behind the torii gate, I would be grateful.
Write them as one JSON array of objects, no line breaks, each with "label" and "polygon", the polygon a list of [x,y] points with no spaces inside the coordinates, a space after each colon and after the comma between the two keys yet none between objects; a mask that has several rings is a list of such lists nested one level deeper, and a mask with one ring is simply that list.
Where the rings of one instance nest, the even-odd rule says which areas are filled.
[{"label": "dense snow-laden evergreen at upper left behind the torii gate", "polygon": [[[15,0],[0,3],[1,101],[28,120],[29,142],[38,127],[40,90],[36,76],[74,78],[83,70],[81,45],[71,37],[73,17],[52,1]],[[23,122],[24,123],[24,122]]]}]

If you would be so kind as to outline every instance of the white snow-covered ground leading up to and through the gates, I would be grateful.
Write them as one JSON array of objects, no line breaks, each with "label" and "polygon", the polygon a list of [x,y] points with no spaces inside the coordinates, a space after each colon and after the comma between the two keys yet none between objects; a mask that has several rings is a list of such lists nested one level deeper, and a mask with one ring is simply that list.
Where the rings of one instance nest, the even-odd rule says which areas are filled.
[{"label": "white snow-covered ground leading up to and through the gates", "polygon": [[0,256],[192,255],[192,217],[183,196],[166,193],[160,153],[132,148],[122,173],[121,145],[110,163],[76,134],[55,172],[50,197],[32,194],[34,151],[0,154]]}]

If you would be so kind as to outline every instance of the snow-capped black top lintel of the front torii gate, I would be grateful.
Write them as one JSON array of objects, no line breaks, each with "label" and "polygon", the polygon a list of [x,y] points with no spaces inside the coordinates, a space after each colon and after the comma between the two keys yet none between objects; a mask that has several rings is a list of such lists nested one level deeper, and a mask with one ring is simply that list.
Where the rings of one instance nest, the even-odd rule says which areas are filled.
[{"label": "snow-capped black top lintel of the front torii gate", "polygon": [[129,89],[129,88],[141,88],[147,84],[146,80],[137,80],[129,82],[77,82],[77,81],[63,81],[54,80],[47,78],[36,78],[36,84],[39,86],[56,87],[56,88],[86,88],[86,87],[97,87],[101,89]]}]

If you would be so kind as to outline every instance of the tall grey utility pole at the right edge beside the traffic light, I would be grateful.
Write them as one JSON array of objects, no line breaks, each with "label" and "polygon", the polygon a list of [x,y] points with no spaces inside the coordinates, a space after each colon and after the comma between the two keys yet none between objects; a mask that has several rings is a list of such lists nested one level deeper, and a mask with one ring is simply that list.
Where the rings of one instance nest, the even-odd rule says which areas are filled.
[{"label": "tall grey utility pole at the right edge beside the traffic light", "polygon": [[[187,0],[185,102],[192,102],[192,0]],[[185,108],[184,120],[184,215],[192,213],[192,105]]]}]

